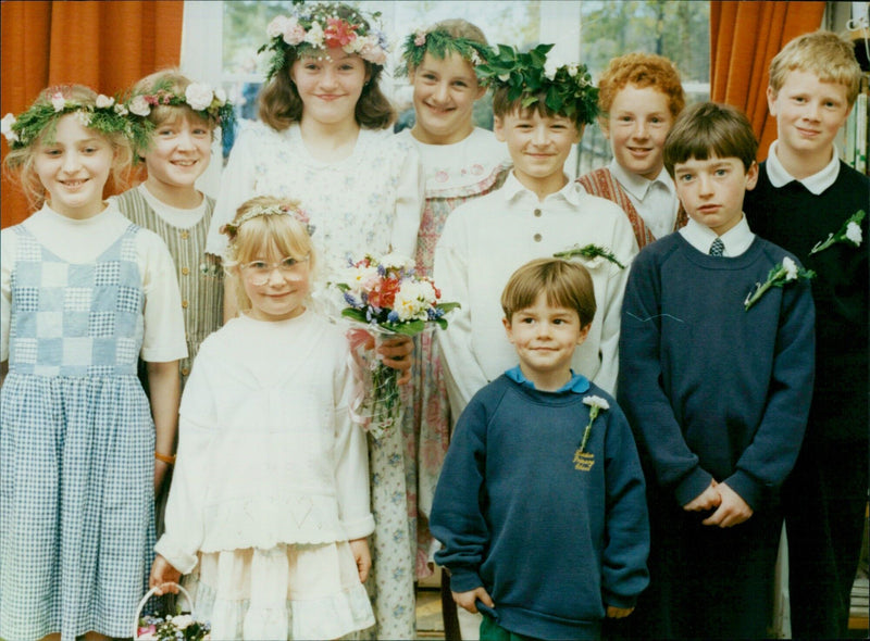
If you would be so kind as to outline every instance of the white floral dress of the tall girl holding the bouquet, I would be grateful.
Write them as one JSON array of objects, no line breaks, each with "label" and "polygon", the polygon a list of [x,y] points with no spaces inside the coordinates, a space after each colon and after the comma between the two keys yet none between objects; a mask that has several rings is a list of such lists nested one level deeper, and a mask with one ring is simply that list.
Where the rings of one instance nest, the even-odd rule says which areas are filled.
[{"label": "white floral dress of the tall girl holding the bouquet", "polygon": [[[324,163],[308,152],[298,125],[276,131],[261,123],[243,129],[221,179],[206,251],[222,255],[220,227],[253,196],[299,200],[315,230],[312,236],[323,268],[313,285],[328,310],[326,282],[348,259],[390,249],[412,255],[420,226],[423,181],[414,146],[384,131],[361,129],[353,152]],[[321,296],[319,296],[321,294]],[[335,310],[333,310],[335,311]],[[372,574],[366,581],[376,639],[412,639],[414,611],[414,531],[407,497],[407,466],[401,431],[369,439],[372,513]]]}]

